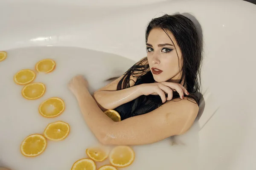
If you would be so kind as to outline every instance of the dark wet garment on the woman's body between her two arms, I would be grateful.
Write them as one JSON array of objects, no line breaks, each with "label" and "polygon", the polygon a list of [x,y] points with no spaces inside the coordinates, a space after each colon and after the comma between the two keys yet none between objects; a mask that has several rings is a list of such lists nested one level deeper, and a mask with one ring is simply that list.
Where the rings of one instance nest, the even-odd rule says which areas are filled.
[{"label": "dark wet garment on the woman's body between her two arms", "polygon": [[[142,84],[142,79],[139,78],[135,82],[135,85],[140,84]],[[132,116],[138,116],[151,112],[161,105],[163,105],[163,103],[159,95],[142,95],[137,99],[132,100],[131,102],[120,105],[114,110],[120,114],[121,120],[124,120]]]}]

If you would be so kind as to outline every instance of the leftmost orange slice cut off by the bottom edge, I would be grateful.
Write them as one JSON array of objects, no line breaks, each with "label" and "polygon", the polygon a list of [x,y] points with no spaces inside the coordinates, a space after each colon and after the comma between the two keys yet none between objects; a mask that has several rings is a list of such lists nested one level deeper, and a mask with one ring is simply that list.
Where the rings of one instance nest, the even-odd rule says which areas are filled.
[{"label": "leftmost orange slice cut off by the bottom edge", "polygon": [[76,161],[71,170],[96,170],[96,164],[91,159],[80,159]]}]

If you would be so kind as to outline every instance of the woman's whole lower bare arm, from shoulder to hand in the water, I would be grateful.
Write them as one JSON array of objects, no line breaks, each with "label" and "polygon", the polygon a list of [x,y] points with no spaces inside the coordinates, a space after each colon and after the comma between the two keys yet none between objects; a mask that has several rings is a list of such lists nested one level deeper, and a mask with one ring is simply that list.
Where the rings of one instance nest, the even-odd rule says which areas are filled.
[{"label": "woman's whole lower bare arm, from shoulder to hand in the water", "polygon": [[[167,102],[150,113],[113,122],[102,112],[87,88],[82,87],[86,83],[81,84],[80,80],[71,80],[70,89],[73,91],[79,88],[79,93],[73,91],[73,94],[84,120],[97,139],[104,144],[149,144],[185,133],[198,113],[198,105],[185,98],[177,102]],[[74,88],[73,84],[79,85]]]}]

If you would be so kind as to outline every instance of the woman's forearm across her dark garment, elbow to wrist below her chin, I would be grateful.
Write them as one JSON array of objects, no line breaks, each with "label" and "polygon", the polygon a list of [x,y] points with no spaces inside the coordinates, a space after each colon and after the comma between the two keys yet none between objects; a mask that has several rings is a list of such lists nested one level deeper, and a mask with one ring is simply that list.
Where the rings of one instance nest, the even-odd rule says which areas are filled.
[{"label": "woman's forearm across her dark garment, elbow to wrist below her chin", "polygon": [[93,97],[102,110],[114,109],[141,96],[140,88],[136,85],[118,91],[98,91]]}]

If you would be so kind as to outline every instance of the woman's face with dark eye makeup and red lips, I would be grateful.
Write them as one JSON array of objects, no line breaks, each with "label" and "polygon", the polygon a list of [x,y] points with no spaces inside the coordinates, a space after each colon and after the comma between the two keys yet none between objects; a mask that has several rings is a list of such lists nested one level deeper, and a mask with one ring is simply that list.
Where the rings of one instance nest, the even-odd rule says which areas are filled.
[{"label": "woman's face with dark eye makeup and red lips", "polygon": [[150,31],[146,43],[148,64],[156,82],[178,83],[182,75],[181,51],[171,31],[166,32],[172,40],[161,28]]}]

